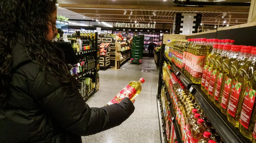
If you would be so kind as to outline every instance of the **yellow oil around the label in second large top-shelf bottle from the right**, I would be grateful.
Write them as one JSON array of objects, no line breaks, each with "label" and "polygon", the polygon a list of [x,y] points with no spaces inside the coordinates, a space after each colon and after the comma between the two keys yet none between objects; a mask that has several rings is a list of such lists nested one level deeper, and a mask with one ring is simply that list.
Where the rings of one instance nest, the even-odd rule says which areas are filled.
[{"label": "yellow oil around the label in second large top-shelf bottle from the right", "polygon": [[[239,127],[240,114],[238,114],[238,112],[241,113],[242,103],[243,103],[243,100],[244,100],[243,95],[245,93],[245,89],[246,89],[246,85],[247,85],[247,81],[245,80],[245,78],[246,78],[245,76],[247,74],[246,73],[247,72],[246,68],[248,68],[248,65],[245,65],[245,66],[243,66],[243,65],[248,60],[249,56],[250,56],[250,53],[248,53],[248,54],[240,53],[239,57],[234,61],[234,63],[230,67],[230,75],[231,75],[230,77],[232,79],[232,83],[233,83],[233,80],[242,83],[242,87],[241,87],[241,91],[240,91],[239,99],[238,99],[238,103],[237,103],[235,117],[231,116],[229,113],[227,114],[228,122],[231,123],[236,128]],[[242,67],[243,69],[239,69],[241,66],[243,66]],[[230,92],[229,92],[229,98],[230,98],[230,94],[231,94],[231,88],[230,88]]]}]

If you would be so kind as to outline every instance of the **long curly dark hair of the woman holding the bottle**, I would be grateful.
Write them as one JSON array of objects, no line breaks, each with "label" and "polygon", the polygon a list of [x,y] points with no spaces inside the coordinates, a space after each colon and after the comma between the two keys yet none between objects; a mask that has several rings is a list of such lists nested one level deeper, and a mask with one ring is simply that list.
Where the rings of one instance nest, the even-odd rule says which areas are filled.
[{"label": "long curly dark hair of the woman holding the bottle", "polygon": [[52,22],[56,3],[57,0],[0,1],[0,101],[8,96],[11,50],[18,40],[44,74],[57,77],[63,84],[72,83],[74,87],[75,78],[69,72],[71,68],[63,62],[63,51],[47,40],[49,32],[57,34],[56,23]]}]

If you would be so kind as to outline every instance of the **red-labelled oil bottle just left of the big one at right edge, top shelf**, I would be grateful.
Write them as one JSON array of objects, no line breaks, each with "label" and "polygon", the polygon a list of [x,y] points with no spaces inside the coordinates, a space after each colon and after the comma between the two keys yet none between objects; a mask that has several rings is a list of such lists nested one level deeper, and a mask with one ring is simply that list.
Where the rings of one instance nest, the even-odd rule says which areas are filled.
[{"label": "red-labelled oil bottle just left of the big one at right edge, top shelf", "polygon": [[247,84],[247,81],[245,80],[245,75],[247,74],[247,71],[245,71],[246,67],[243,67],[243,69],[239,68],[243,66],[245,62],[248,60],[250,52],[251,47],[242,47],[239,56],[230,67],[230,75],[232,82],[229,93],[227,119],[228,122],[236,128],[238,128],[239,126],[240,112],[242,108],[241,105],[244,99],[243,93],[245,92]]}]

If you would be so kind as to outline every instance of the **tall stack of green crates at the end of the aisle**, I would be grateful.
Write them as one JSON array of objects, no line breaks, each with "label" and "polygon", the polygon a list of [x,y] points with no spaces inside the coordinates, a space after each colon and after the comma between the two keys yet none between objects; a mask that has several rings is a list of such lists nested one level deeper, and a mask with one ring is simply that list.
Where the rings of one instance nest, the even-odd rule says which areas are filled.
[{"label": "tall stack of green crates at the end of the aisle", "polygon": [[133,35],[131,64],[140,64],[143,55],[144,35]]}]

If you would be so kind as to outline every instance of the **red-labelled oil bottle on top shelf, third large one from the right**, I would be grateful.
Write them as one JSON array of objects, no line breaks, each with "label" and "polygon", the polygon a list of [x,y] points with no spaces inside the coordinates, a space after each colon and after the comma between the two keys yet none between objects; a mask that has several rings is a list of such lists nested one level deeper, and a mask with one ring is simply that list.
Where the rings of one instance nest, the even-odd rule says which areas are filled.
[{"label": "red-labelled oil bottle on top shelf, third large one from the right", "polygon": [[[233,48],[233,49],[232,49]],[[220,97],[221,97],[221,113],[227,116],[227,107],[228,107],[228,99],[229,99],[229,93],[230,93],[230,87],[231,87],[231,81],[232,78],[235,76],[235,73],[231,72],[230,67],[234,63],[234,61],[237,59],[239,55],[239,51],[241,50],[241,46],[232,46],[231,52],[237,52],[232,55],[232,57],[228,60],[228,67],[227,72],[226,70],[223,73],[223,81],[221,83],[221,90],[220,90]],[[225,62],[223,62],[226,64]]]}]

